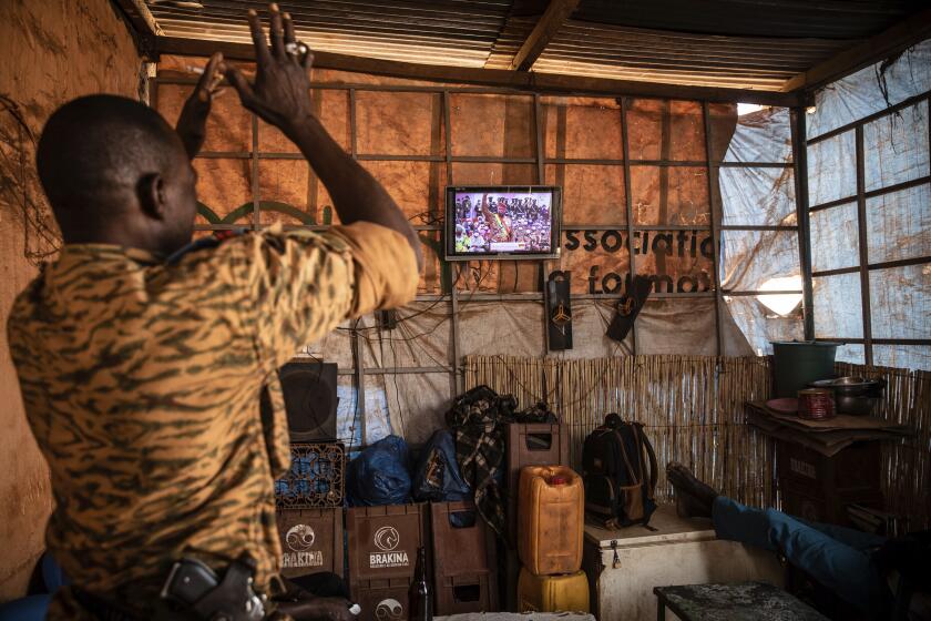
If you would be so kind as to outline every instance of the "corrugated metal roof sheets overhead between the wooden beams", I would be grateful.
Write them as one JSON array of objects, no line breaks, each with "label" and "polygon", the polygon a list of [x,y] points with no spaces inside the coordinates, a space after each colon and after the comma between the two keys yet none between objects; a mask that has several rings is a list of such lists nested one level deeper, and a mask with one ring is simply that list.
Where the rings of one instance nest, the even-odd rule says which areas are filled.
[{"label": "corrugated metal roof sheets overhead between the wooden beams", "polygon": [[[168,37],[249,42],[253,0],[145,0]],[[182,3],[183,4],[183,3]],[[282,1],[298,37],[344,54],[508,69],[546,0]],[[778,90],[921,0],[582,0],[533,71]]]}]

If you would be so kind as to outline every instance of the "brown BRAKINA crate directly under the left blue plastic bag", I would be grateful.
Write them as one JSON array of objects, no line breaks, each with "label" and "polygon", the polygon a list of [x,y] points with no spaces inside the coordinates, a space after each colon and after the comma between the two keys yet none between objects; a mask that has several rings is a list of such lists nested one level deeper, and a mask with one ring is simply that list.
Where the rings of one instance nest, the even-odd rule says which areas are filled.
[{"label": "brown BRAKINA crate directly under the left blue plastic bag", "polygon": [[432,567],[429,544],[429,505],[352,507],[346,510],[349,541],[349,580],[413,577],[417,549],[427,548],[428,574]]}]

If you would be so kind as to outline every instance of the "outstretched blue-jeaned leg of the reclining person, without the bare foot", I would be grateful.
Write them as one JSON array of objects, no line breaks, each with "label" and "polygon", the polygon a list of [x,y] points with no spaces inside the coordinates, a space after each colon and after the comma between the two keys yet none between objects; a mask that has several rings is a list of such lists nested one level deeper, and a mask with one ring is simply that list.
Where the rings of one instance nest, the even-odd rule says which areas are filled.
[{"label": "outstretched blue-jeaned leg of the reclining person, without the bare foot", "polygon": [[753,509],[725,496],[712,508],[718,539],[781,552],[794,566],[864,610],[876,610],[886,586],[870,556],[775,509]]}]

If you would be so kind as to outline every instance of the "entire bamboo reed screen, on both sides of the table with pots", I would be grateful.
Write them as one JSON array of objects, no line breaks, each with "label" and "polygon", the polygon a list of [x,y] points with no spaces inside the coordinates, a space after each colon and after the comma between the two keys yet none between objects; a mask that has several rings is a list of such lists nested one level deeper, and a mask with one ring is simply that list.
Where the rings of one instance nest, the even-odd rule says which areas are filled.
[{"label": "entire bamboo reed screen, on both sides of the table with pots", "polygon": [[[589,360],[469,356],[466,386],[485,384],[514,395],[521,407],[544,400],[569,426],[571,459],[605,414],[644,424],[661,467],[677,460],[705,481],[747,505],[778,507],[775,448],[746,425],[744,404],[770,394],[767,357],[622,356]],[[890,512],[911,529],[931,516],[931,373],[837,365],[838,375],[888,381],[877,414],[910,425],[915,436],[883,442],[882,485]],[[661,468],[657,496],[672,488]]]}]

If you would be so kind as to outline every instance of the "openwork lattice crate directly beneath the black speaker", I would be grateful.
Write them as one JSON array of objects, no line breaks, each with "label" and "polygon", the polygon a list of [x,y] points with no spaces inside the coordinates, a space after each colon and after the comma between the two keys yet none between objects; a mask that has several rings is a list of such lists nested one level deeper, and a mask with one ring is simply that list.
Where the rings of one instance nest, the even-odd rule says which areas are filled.
[{"label": "openwork lattice crate directly beneath the black speaker", "polygon": [[345,493],[342,442],[291,442],[290,470],[275,481],[278,509],[342,507]]}]

